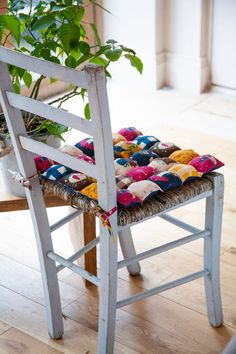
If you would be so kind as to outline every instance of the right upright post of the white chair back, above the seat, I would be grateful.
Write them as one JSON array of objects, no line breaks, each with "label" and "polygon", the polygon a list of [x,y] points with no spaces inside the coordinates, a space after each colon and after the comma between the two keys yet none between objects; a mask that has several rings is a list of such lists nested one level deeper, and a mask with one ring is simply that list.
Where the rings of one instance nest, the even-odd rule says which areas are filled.
[{"label": "right upright post of the white chair back, above the seat", "polygon": [[116,185],[106,77],[104,69],[97,65],[88,64],[84,70],[93,126],[98,202],[109,211],[116,206]]}]

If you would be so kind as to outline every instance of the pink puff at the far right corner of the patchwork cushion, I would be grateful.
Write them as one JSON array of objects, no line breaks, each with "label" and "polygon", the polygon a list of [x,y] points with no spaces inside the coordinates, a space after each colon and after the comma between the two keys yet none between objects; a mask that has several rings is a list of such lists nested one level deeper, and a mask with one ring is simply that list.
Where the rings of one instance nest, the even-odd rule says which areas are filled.
[{"label": "pink puff at the far right corner of the patchwork cushion", "polygon": [[195,167],[198,172],[202,173],[208,173],[224,166],[223,162],[211,155],[195,157],[189,162],[189,165]]}]

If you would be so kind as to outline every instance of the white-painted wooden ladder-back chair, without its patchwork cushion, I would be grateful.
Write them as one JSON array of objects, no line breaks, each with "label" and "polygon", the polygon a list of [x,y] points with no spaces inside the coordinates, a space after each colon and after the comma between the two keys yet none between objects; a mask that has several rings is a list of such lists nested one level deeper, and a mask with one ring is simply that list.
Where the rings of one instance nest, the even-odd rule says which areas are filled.
[{"label": "white-painted wooden ladder-back chair, without its patchwork cushion", "polygon": [[[48,77],[55,77],[87,89],[92,117],[91,121],[13,93],[6,63],[14,64]],[[153,201],[153,205],[151,205],[150,202],[146,207],[137,208],[137,210],[141,210],[142,208],[148,209],[146,214],[142,211],[135,216],[131,215],[131,218],[130,214],[127,214],[129,216],[127,217],[124,213],[119,214],[119,211],[117,213],[112,133],[106,92],[106,79],[101,67],[87,65],[83,71],[77,71],[1,47],[0,99],[21,175],[26,180],[29,179],[30,176],[35,175],[36,167],[32,153],[37,153],[96,178],[99,194],[98,204],[107,212],[105,216],[109,219],[114,232],[113,242],[108,228],[100,222],[100,236],[83,249],[76,252],[69,259],[55,254],[51,240],[53,227],[50,228],[48,223],[39,179],[34,178],[30,180],[32,189],[26,189],[26,194],[34,224],[41,264],[49,335],[52,338],[60,338],[63,335],[63,318],[57,272],[64,267],[69,267],[99,287],[100,307],[97,351],[99,354],[113,353],[117,308],[121,308],[137,300],[144,299],[201,277],[204,277],[205,280],[209,322],[214,327],[220,326],[223,322],[219,279],[223,176],[220,174],[211,174],[208,177],[202,177],[200,179],[201,181],[199,180],[192,184],[190,183],[189,186],[180,187],[179,192],[175,193],[175,200],[171,199],[171,192],[168,194],[166,200],[166,192],[162,193],[161,198],[163,200]],[[23,124],[21,110],[30,111],[93,136],[96,165],[75,159],[43,143],[30,139],[27,136]],[[204,230],[199,230],[167,214],[170,210],[202,198],[206,198],[206,222]],[[151,211],[150,207],[152,207]],[[154,216],[160,216],[168,222],[189,231],[191,234],[136,255],[130,227]],[[127,222],[127,220],[129,220],[129,222]],[[66,220],[63,220],[63,223],[65,221]],[[117,262],[118,237],[124,254],[124,260],[119,262]],[[204,267],[202,270],[198,270],[193,274],[153,289],[143,291],[127,299],[117,301],[118,269],[128,267],[131,274],[139,273],[139,261],[199,238],[203,238],[204,240]],[[78,257],[96,246],[98,242],[100,242],[99,278],[73,263]],[[58,266],[56,266],[56,262],[59,263]]]}]

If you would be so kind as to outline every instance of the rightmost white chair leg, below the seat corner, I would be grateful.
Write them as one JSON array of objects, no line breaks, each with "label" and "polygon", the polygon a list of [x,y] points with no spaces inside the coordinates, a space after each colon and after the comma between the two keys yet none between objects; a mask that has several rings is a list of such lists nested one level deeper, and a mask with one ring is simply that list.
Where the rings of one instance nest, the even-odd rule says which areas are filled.
[{"label": "rightmost white chair leg, below the seat corner", "polygon": [[220,240],[223,211],[224,177],[212,177],[213,195],[206,199],[205,228],[211,235],[204,240],[204,268],[209,271],[205,276],[205,293],[208,319],[213,327],[223,323],[220,293]]}]

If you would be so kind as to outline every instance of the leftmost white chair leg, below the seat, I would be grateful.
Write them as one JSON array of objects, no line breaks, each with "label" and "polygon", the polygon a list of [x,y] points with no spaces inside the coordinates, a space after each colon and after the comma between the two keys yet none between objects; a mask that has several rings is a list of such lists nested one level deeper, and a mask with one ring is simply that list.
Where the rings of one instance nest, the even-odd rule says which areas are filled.
[{"label": "leftmost white chair leg, below the seat", "polygon": [[53,251],[51,232],[39,181],[32,180],[31,185],[32,190],[26,190],[26,195],[33,221],[42,274],[48,333],[51,338],[58,339],[63,336],[64,329],[56,264],[47,256],[48,252]]}]

